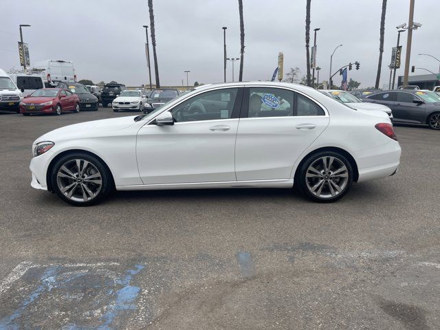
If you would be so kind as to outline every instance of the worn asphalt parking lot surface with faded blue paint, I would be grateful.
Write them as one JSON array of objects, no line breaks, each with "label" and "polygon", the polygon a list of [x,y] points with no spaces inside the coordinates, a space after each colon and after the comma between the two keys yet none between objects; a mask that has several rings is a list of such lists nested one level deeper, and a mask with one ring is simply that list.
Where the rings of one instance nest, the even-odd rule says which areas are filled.
[{"label": "worn asphalt parking lot surface with faded blue paint", "polygon": [[30,187],[31,144],[134,113],[0,113],[0,329],[440,329],[440,132],[336,203],[293,190]]}]

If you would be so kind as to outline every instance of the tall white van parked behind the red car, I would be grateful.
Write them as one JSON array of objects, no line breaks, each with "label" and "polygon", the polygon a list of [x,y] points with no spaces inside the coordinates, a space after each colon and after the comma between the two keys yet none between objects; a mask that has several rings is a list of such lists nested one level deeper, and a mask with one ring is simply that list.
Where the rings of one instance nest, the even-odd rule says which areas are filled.
[{"label": "tall white van parked behind the red car", "polygon": [[34,69],[41,70],[45,87],[56,87],[60,81],[76,81],[74,63],[71,61],[41,61],[34,63]]}]

